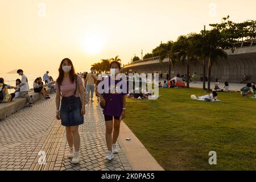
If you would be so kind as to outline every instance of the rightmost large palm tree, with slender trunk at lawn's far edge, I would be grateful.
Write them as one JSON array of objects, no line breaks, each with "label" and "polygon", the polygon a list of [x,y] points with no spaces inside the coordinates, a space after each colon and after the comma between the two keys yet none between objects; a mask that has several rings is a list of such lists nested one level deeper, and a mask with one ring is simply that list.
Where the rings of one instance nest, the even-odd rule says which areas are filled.
[{"label": "rightmost large palm tree, with slender trunk at lawn's far edge", "polygon": [[210,92],[210,76],[212,71],[212,65],[218,58],[227,59],[228,55],[222,49],[223,47],[229,46],[228,42],[222,38],[221,32],[213,29],[207,31],[204,37],[204,46],[202,47],[202,53],[205,57],[208,57],[208,85],[207,91]]}]

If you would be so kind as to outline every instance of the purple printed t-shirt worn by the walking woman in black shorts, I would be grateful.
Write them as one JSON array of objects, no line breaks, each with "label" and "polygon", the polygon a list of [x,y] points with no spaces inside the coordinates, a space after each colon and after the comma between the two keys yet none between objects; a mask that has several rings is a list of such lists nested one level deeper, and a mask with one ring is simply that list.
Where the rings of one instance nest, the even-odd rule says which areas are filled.
[{"label": "purple printed t-shirt worn by the walking woman in black shorts", "polygon": [[[113,80],[110,76],[104,78],[100,84],[98,84],[98,90],[104,89],[103,97],[106,100],[106,105],[103,110],[105,115],[119,116],[123,109],[123,95],[127,94],[126,82],[123,80]],[[105,88],[104,85],[108,85]],[[122,90],[122,89],[126,89]],[[110,93],[110,94],[108,94]],[[107,100],[108,97],[108,100]]]}]

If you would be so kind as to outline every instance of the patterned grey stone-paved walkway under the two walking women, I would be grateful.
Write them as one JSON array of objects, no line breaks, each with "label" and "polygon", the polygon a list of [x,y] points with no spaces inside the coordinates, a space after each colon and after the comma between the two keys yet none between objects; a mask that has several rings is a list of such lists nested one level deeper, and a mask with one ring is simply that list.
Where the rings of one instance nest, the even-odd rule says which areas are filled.
[{"label": "patterned grey stone-paved walkway under the two walking women", "polygon": [[[105,160],[105,123],[97,101],[86,105],[80,126],[80,163],[67,158],[65,127],[55,119],[55,94],[40,100],[0,122],[0,170],[131,170],[118,146],[114,160]],[[46,164],[39,164],[39,151],[46,152]]]}]

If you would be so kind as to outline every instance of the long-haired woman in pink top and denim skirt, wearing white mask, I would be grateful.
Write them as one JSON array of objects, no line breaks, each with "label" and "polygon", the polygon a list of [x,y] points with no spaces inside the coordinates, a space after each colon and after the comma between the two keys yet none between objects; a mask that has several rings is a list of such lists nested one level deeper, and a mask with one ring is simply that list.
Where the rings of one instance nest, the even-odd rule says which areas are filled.
[{"label": "long-haired woman in pink top and denim skirt, wearing white mask", "polygon": [[[79,163],[80,135],[78,129],[79,125],[84,123],[85,88],[82,84],[82,78],[75,74],[72,61],[68,58],[63,59],[60,63],[55,89],[56,118],[61,119],[61,125],[66,127],[69,145],[68,158],[73,158],[71,162],[73,164]],[[75,147],[75,154],[73,146]]]}]

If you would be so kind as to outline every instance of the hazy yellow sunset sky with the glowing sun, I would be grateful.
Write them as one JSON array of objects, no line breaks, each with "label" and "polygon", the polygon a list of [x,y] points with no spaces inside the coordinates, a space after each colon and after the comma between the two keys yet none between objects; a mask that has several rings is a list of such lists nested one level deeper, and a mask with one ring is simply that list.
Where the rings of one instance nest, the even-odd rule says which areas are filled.
[{"label": "hazy yellow sunset sky with the glowing sun", "polygon": [[127,64],[161,40],[203,25],[256,19],[255,0],[0,0],[0,73],[57,72],[69,57],[76,71],[119,55]]}]

